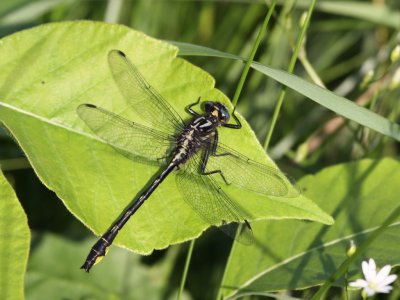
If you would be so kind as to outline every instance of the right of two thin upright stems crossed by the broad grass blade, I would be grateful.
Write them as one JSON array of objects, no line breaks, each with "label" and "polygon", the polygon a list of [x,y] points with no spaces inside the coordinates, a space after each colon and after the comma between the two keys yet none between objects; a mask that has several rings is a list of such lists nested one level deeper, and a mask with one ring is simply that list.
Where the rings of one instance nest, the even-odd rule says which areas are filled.
[{"label": "right of two thin upright stems crossed by the broad grass blade", "polygon": [[[317,0],[313,0],[311,2],[310,7],[308,8],[307,17],[306,17],[306,19],[304,21],[304,25],[303,25],[303,27],[301,29],[299,38],[297,39],[297,43],[295,45],[292,57],[290,59],[289,67],[287,69],[287,72],[289,74],[293,73],[293,69],[294,69],[294,66],[295,66],[296,61],[297,61],[299,50],[300,50],[300,48],[301,48],[301,46],[303,44],[304,37],[306,35],[307,28],[308,28],[308,25],[310,23],[311,15],[312,15],[312,12],[314,11],[314,7],[315,7],[316,2],[317,2]],[[278,102],[276,103],[274,114],[273,114],[272,119],[271,119],[271,125],[270,125],[269,130],[267,132],[267,135],[265,137],[265,143],[264,143],[264,149],[265,150],[268,149],[269,143],[271,141],[272,132],[274,131],[275,124],[276,124],[276,122],[278,120],[278,115],[279,115],[279,112],[281,110],[283,99],[285,98],[285,94],[286,94],[286,87],[284,86],[284,87],[282,87],[282,89],[281,89],[281,91],[279,93]]]}]

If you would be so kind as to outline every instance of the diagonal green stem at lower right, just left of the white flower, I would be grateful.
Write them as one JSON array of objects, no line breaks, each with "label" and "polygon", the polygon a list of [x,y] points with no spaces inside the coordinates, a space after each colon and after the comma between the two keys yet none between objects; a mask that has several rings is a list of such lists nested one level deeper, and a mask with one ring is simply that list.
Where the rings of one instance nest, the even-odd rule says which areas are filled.
[{"label": "diagonal green stem at lower right, just left of the white flower", "polygon": [[392,224],[398,217],[400,216],[400,206],[398,206],[386,219],[386,221],[379,227],[377,230],[375,230],[371,235],[367,238],[367,240],[361,244],[360,247],[357,247],[357,250],[354,252],[352,256],[350,256],[348,259],[346,259],[340,267],[336,270],[335,273],[333,273],[325,282],[324,284],[320,287],[318,292],[315,293],[315,295],[311,298],[311,300],[317,300],[321,299],[324,294],[328,291],[328,289],[331,287],[331,285],[338,280],[341,276],[343,276],[349,266],[354,263],[354,261],[367,250],[369,245],[372,244],[372,242],[383,233],[383,231],[386,230]]}]

